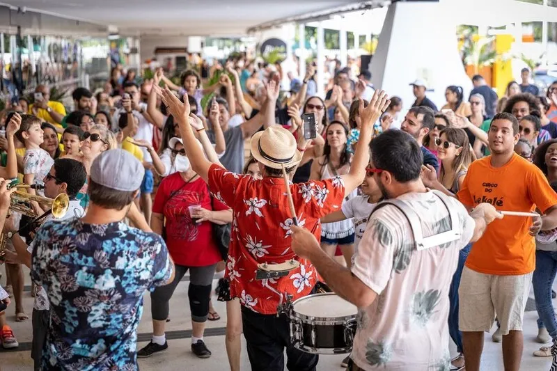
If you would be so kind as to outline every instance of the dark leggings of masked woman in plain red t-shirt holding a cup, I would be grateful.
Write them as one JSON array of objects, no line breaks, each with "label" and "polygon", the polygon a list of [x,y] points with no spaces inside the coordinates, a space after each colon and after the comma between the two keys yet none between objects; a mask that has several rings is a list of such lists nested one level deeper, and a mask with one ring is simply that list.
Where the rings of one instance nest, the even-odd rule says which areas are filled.
[{"label": "dark leggings of masked woman in plain red t-shirt holding a cup", "polygon": [[182,280],[182,277],[189,269],[189,287],[187,296],[189,299],[189,309],[191,310],[191,320],[194,322],[207,321],[209,314],[209,301],[214,276],[214,268],[217,265],[207,267],[185,267],[175,265],[174,281],[168,285],[159,286],[151,292],[151,313],[155,321],[165,321],[168,318],[168,301]]}]

